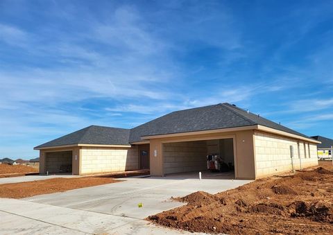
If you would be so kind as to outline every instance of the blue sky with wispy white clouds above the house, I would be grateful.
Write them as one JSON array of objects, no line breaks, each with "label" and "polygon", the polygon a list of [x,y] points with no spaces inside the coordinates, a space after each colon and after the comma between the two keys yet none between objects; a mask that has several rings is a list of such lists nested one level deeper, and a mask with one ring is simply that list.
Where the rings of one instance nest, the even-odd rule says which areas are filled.
[{"label": "blue sky with wispy white clouds above the house", "polygon": [[333,138],[332,1],[0,0],[0,158],[234,103]]}]

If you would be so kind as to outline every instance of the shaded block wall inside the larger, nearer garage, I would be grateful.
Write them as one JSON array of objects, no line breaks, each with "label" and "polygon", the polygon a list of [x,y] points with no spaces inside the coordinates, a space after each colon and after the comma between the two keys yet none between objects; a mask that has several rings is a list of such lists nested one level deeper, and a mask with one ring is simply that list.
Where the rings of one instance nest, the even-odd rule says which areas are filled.
[{"label": "shaded block wall inside the larger, nearer garage", "polygon": [[207,170],[206,141],[164,143],[164,174]]}]

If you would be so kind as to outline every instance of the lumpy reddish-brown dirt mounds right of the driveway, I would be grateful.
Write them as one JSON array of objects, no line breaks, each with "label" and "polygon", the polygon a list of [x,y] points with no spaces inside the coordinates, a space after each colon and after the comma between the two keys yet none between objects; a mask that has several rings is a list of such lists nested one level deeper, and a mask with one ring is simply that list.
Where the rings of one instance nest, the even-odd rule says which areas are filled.
[{"label": "lumpy reddish-brown dirt mounds right of the driveway", "polygon": [[333,167],[268,177],[212,195],[176,198],[187,205],[147,220],[212,234],[333,234]]}]

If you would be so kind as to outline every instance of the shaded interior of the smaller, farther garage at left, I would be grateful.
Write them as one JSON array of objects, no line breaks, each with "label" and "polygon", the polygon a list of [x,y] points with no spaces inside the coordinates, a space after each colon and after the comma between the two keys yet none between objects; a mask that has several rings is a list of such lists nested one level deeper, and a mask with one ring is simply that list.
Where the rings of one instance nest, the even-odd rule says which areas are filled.
[{"label": "shaded interior of the smaller, farther garage at left", "polygon": [[49,173],[72,173],[72,151],[46,153],[45,170]]}]

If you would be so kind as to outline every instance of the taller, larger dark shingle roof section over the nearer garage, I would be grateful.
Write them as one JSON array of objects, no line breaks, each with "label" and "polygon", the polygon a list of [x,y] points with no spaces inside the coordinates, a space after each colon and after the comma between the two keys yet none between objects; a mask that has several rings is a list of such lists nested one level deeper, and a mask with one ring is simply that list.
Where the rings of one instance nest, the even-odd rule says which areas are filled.
[{"label": "taller, larger dark shingle roof section over the nearer garage", "polygon": [[309,138],[305,134],[264,119],[256,114],[248,113],[246,110],[229,103],[221,103],[171,112],[158,119],[139,125],[130,131],[130,143],[140,141],[142,136],[236,128],[248,125],[264,125],[268,128]]}]

